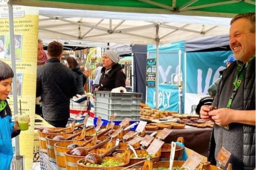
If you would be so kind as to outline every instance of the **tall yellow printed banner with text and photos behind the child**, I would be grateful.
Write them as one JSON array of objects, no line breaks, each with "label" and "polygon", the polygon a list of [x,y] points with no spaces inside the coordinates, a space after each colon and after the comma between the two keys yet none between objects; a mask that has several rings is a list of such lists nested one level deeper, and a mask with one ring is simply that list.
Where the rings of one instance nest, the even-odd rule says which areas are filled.
[{"label": "tall yellow printed banner with text and photos behind the child", "polygon": [[[14,44],[16,61],[17,99],[21,100],[22,113],[28,113],[30,127],[20,133],[20,155],[24,155],[25,170],[33,165],[35,93],[37,76],[37,39],[39,10],[35,7],[13,6]],[[0,60],[11,66],[9,11],[6,0],[0,1]],[[13,113],[13,96],[8,103]],[[18,106],[20,113],[20,106]],[[15,146],[13,146],[15,149]],[[15,160],[14,160],[15,162]]]}]

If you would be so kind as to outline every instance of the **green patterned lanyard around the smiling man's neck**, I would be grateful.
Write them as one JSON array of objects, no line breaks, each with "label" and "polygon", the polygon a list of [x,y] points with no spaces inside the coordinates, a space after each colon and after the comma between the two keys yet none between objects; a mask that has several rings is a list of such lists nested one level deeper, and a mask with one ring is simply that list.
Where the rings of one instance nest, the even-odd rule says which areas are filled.
[{"label": "green patterned lanyard around the smiling man's neck", "polygon": [[[236,79],[234,80],[234,89],[230,96],[230,99],[228,100],[227,108],[230,108],[234,97],[236,96],[237,89],[240,87],[241,83],[243,82],[244,76],[245,76],[245,70],[249,64],[249,62],[255,57],[255,55],[245,64],[245,67],[243,64],[239,63],[237,65],[237,74]],[[240,75],[239,75],[240,74]],[[239,77],[238,77],[239,76]],[[223,126],[226,130],[229,129],[229,125]]]}]

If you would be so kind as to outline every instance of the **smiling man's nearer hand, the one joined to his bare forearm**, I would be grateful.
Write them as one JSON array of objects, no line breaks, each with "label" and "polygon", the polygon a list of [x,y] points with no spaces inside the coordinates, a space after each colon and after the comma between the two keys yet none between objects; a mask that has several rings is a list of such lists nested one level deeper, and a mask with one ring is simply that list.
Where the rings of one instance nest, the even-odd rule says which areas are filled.
[{"label": "smiling man's nearer hand, the one joined to his bare forearm", "polygon": [[230,108],[220,108],[210,111],[208,115],[211,116],[217,125],[225,126],[232,123],[233,112],[234,110]]}]

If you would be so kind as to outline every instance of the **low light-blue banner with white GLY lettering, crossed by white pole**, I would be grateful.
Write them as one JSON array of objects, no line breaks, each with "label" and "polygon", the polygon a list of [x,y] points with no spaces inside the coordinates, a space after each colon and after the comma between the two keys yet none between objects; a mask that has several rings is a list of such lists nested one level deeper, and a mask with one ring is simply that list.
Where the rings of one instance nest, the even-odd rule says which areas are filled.
[{"label": "low light-blue banner with white GLY lettering, crossed by white pole", "polygon": [[[177,85],[168,85],[168,84],[159,84],[159,109],[160,110],[169,110],[169,111],[178,111],[178,86]],[[156,88],[148,87],[148,99],[147,104],[151,108],[156,107]]]}]

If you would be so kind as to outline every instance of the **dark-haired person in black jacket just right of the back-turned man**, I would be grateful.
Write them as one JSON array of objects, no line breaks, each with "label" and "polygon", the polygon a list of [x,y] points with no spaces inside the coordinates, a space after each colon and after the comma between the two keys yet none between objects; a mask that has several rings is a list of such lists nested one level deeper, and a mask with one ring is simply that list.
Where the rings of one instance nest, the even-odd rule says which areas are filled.
[{"label": "dark-haired person in black jacket just right of the back-turned man", "polygon": [[87,81],[87,77],[83,74],[80,66],[74,57],[67,57],[68,67],[72,69],[74,76],[76,77],[77,94],[85,94],[84,85]]}]

